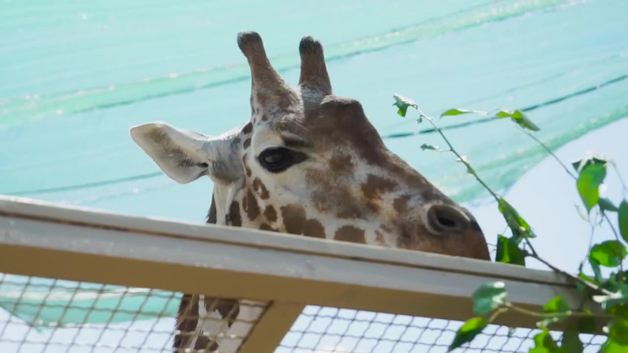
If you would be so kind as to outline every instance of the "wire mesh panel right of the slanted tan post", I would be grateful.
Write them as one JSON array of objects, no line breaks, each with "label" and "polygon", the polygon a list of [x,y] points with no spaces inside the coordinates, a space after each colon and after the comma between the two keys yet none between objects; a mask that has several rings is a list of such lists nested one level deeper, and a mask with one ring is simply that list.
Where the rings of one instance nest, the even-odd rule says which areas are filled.
[{"label": "wire mesh panel right of the slanted tan post", "polygon": [[[445,353],[463,322],[428,317],[308,306],[275,353]],[[454,352],[528,352],[540,330],[489,325]],[[560,339],[561,332],[550,332]],[[581,334],[584,352],[605,338]]]}]

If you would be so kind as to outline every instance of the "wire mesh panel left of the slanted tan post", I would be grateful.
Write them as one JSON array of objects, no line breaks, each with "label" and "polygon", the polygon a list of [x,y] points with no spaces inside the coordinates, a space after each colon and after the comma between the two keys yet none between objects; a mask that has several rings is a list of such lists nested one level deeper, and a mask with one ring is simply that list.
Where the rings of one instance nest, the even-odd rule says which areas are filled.
[{"label": "wire mesh panel left of the slanted tan post", "polygon": [[[182,298],[186,305],[180,308]],[[198,310],[202,303],[205,312],[213,315]],[[198,335],[196,327],[217,327],[230,320],[232,327],[240,326],[239,332],[247,332],[266,305],[149,288],[0,274],[0,307],[4,309],[0,310],[0,352],[173,352],[177,339],[191,342],[195,349],[189,352],[211,351],[216,341],[221,347],[237,347],[243,335],[232,331],[229,335]],[[245,311],[246,317],[239,315],[236,320],[237,314]],[[186,320],[177,320],[178,312]],[[195,325],[198,321],[202,325]]]}]

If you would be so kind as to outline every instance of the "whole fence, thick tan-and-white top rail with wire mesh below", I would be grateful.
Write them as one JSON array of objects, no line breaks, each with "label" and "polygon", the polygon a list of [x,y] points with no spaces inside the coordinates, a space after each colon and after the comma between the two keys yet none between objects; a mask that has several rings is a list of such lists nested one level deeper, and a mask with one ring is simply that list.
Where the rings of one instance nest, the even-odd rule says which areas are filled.
[{"label": "whole fence, thick tan-and-white top rail with wire mesh below", "polygon": [[[0,353],[447,352],[495,280],[582,301],[549,271],[0,197]],[[497,320],[455,352],[534,347],[533,318]]]}]

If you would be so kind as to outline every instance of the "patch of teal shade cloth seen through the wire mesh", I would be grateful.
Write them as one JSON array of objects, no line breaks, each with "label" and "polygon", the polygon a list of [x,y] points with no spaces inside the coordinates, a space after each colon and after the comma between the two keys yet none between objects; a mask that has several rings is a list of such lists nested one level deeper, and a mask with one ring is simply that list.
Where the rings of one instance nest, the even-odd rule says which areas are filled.
[{"label": "patch of teal shade cloth seen through the wire mesh", "polygon": [[180,293],[5,274],[0,305],[39,329],[172,317]]}]

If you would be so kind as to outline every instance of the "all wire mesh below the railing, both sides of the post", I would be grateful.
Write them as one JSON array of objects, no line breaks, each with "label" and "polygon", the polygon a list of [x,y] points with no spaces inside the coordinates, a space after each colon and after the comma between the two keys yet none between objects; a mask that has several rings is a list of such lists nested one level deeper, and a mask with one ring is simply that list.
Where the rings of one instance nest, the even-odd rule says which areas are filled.
[{"label": "all wire mesh below the railing, both sides of the post", "polygon": [[[207,312],[225,313],[247,332],[267,303],[234,301],[178,292],[129,288],[99,283],[0,274],[0,352],[173,352],[175,340],[196,338],[188,352],[235,351],[245,339],[233,334],[215,337],[194,327],[178,324],[176,314],[191,320],[224,323],[200,317]],[[195,299],[195,300],[194,300]],[[186,301],[187,300],[187,301]],[[234,303],[239,303],[234,307]],[[242,315],[244,306],[248,314]],[[234,317],[237,317],[235,320]],[[244,317],[246,316],[246,317]],[[251,320],[253,318],[254,320]],[[194,322],[194,321],[192,321]],[[344,308],[307,306],[276,348],[276,353],[447,352],[462,322],[408,315],[365,312]],[[177,330],[178,329],[178,330]],[[242,327],[241,327],[242,329]],[[539,330],[489,325],[457,352],[528,352]],[[551,332],[560,339],[560,332]],[[203,340],[202,337],[207,337]],[[580,335],[585,352],[597,352],[604,337]],[[190,341],[185,341],[190,342]],[[205,347],[202,347],[202,346]]]}]

